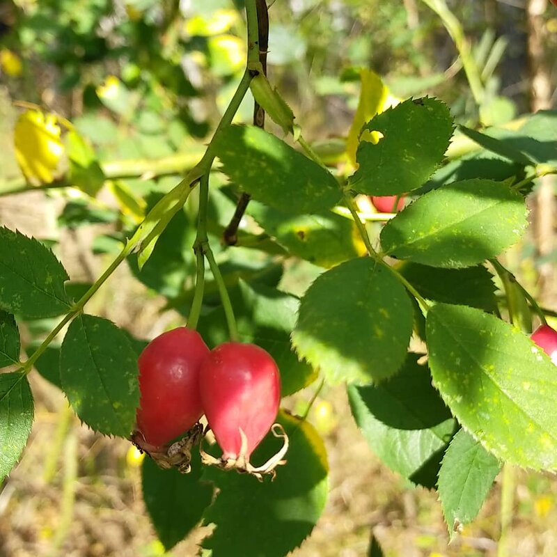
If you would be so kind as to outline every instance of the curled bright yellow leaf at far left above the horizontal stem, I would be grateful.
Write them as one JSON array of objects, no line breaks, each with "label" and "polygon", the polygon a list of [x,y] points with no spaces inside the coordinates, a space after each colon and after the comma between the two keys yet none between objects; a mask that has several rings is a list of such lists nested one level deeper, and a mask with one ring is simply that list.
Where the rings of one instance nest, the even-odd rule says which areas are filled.
[{"label": "curled bright yellow leaf at far left above the horizontal stem", "polygon": [[61,128],[54,114],[27,110],[14,130],[15,157],[27,180],[49,184],[57,175],[64,153]]}]

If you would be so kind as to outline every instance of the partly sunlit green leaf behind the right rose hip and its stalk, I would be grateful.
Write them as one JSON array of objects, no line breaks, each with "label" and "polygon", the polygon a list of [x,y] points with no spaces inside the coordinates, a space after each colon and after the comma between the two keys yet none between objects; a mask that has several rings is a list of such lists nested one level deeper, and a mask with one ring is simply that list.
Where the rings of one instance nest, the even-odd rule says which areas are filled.
[{"label": "partly sunlit green leaf behind the right rose hip and its stalk", "polygon": [[[243,343],[255,343],[273,356],[281,372],[283,396],[304,389],[316,373],[292,352],[290,332],[296,322],[299,300],[295,296],[240,281],[239,288],[230,290],[238,334]],[[198,330],[210,346],[228,340],[228,327],[223,309],[217,308],[203,317]]]}]

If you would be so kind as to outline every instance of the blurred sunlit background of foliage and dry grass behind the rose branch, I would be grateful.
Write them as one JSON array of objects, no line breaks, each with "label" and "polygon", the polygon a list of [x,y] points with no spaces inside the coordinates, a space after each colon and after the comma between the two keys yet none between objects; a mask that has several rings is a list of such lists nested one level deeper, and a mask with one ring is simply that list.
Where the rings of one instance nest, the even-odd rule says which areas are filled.
[{"label": "blurred sunlit background of foliage and dry grass behind the rose branch", "polygon": [[[441,97],[457,122],[470,127],[508,125],[523,113],[555,107],[557,11],[551,4],[542,0],[534,20],[528,10],[539,1],[446,1],[471,45],[479,83],[479,91],[473,91],[455,41],[430,8],[435,3],[272,3],[269,79],[294,109],[308,139],[322,143],[322,152],[334,151],[337,140],[342,145],[350,130],[359,102],[360,68],[381,75],[394,97]],[[535,37],[540,38],[542,52],[535,52]],[[240,80],[245,42],[242,0],[0,3],[0,194],[4,187],[22,182],[13,147],[13,128],[21,112],[18,102],[68,118],[71,124],[63,130],[69,153],[66,164],[79,187],[48,189],[47,196],[31,192],[25,200],[18,197],[19,202],[15,197],[2,199],[0,223],[55,245],[57,255],[72,270],[74,282],[69,288],[76,296],[120,249],[148,207],[201,157]],[[543,98],[533,87],[540,76],[546,84]],[[251,122],[252,112],[253,99],[248,95],[237,120]],[[268,127],[282,136],[272,123]],[[240,284],[233,296],[240,299],[245,290],[240,279],[301,294],[322,269],[292,260],[284,266],[269,265],[281,253],[280,245],[262,242],[254,234],[241,239],[244,247],[221,251],[219,236],[235,199],[223,181],[217,173],[212,175],[212,184],[220,187],[211,194],[210,233],[228,285]],[[256,221],[263,218],[255,204],[250,212]],[[90,311],[107,315],[138,338],[182,324],[191,302],[195,216],[192,196],[146,266],[139,271],[130,260],[131,274],[146,288],[139,289],[129,274],[119,272],[95,297]],[[273,215],[265,218],[269,225]],[[288,246],[288,238],[282,240]],[[354,249],[360,247],[338,246],[339,257]],[[555,251],[546,251],[545,259],[536,260],[537,254],[532,238],[508,253],[510,267],[521,272],[528,286],[538,278],[534,262],[557,260]],[[205,322],[211,324],[211,315],[219,317],[214,313],[218,309],[213,309],[218,297],[212,281],[207,281],[206,289]],[[52,320],[26,322],[22,333],[31,340],[51,328]],[[218,327],[207,332],[214,338],[219,334]],[[55,345],[50,355],[57,357]],[[64,543],[79,556],[161,555],[136,493],[139,471],[130,455],[125,459],[129,444],[102,439],[84,427],[69,432],[72,417],[59,393],[48,389],[35,379],[33,391],[41,405],[36,430],[42,428],[43,433],[35,434],[28,456],[10,477],[12,488],[4,487],[0,493],[0,555],[56,555]],[[306,400],[292,402],[295,410],[303,412],[305,407]],[[370,524],[387,555],[496,555],[498,490],[477,523],[447,548],[434,494],[408,491],[400,478],[379,465],[352,421],[345,419],[348,412],[344,395],[327,387],[313,407],[310,418],[329,451],[332,489],[327,512],[300,556],[363,555]],[[72,437],[76,434],[77,448]],[[72,459],[79,459],[78,484],[75,474],[55,472],[56,463],[64,473],[71,471]],[[74,504],[61,500],[65,489],[73,493]],[[519,548],[517,555],[557,554],[556,493],[557,483],[546,476],[519,476],[514,541],[509,542]],[[12,512],[9,519],[2,516],[6,509]],[[73,522],[72,513],[77,517]],[[200,538],[199,533],[190,537],[175,555],[194,554]]]}]

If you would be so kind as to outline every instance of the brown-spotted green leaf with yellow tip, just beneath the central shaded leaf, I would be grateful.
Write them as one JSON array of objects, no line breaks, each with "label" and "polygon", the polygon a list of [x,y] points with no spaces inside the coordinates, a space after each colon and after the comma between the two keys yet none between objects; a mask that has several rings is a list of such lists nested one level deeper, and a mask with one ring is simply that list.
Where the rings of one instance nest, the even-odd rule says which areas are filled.
[{"label": "brown-spotted green leaf with yellow tip, just beneath the central shaded leaf", "polygon": [[334,267],[366,253],[354,223],[338,214],[289,215],[253,201],[249,214],[292,256],[313,265]]}]

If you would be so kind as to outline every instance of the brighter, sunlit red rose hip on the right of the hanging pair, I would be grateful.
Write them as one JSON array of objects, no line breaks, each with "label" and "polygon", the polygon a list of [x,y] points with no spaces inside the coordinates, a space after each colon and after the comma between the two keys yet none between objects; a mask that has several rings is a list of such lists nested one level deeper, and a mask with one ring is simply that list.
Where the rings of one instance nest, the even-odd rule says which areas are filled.
[{"label": "brighter, sunlit red rose hip on the right of the hanging pair", "polygon": [[281,379],[274,359],[253,344],[223,343],[203,361],[201,401],[209,427],[223,450],[222,460],[249,456],[270,430],[281,399]]}]

